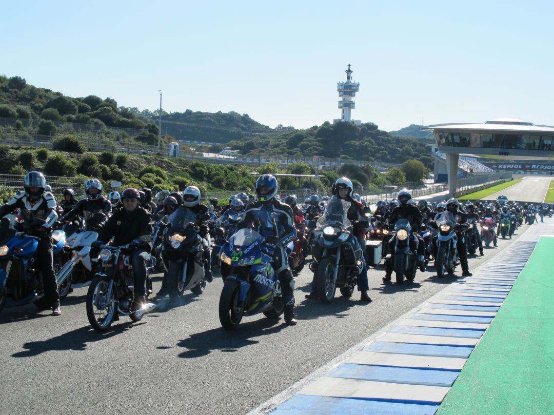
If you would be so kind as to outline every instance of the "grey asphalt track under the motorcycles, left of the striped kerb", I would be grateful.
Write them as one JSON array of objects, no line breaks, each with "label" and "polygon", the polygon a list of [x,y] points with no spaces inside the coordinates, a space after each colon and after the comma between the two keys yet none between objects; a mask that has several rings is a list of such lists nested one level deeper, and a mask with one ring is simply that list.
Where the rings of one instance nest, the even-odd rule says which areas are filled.
[{"label": "grey asphalt track under the motorcycles, left of the striped kerb", "polygon": [[[484,257],[469,259],[470,269],[510,243],[485,248]],[[4,309],[2,413],[247,413],[457,278],[439,279],[429,267],[398,286],[384,285],[383,275],[382,264],[370,269],[371,303],[355,292],[324,305],[304,299],[312,278],[306,268],[296,277],[294,327],[260,314],[245,317],[238,330],[223,330],[218,278],[200,296],[161,300],[143,321],[121,317],[103,334],[86,319],[86,287],[64,300],[60,317],[34,305]],[[155,292],[160,284],[158,276]]]}]

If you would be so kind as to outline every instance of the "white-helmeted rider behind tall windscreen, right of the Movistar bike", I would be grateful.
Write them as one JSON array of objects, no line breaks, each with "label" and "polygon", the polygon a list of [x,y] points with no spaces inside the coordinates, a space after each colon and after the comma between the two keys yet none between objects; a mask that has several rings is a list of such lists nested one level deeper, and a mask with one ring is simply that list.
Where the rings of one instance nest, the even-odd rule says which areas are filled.
[{"label": "white-helmeted rider behind tall windscreen, right of the Movistar bike", "polygon": [[[336,180],[335,184],[333,185],[333,197],[336,197],[337,199],[341,199],[346,202],[350,202],[350,207],[348,208],[348,212],[346,214],[348,220],[352,222],[353,226],[355,227],[356,221],[365,221],[366,216],[363,212],[363,204],[361,202],[358,202],[356,199],[354,199],[353,191],[352,191],[352,182],[347,177],[340,177]],[[360,274],[358,274],[357,282],[358,282],[358,291],[361,292],[360,300],[361,301],[371,301],[371,298],[367,291],[370,289],[370,285],[367,281],[367,251],[366,251],[366,240],[365,240],[365,229],[359,229],[357,230],[356,234],[354,230],[352,230],[352,233],[348,236],[348,242],[350,242],[354,249],[361,248],[363,252],[363,256],[361,257],[362,260],[362,271]],[[315,286],[312,282],[312,291],[310,294],[306,295],[306,298],[317,298],[317,294],[315,292]]]}]

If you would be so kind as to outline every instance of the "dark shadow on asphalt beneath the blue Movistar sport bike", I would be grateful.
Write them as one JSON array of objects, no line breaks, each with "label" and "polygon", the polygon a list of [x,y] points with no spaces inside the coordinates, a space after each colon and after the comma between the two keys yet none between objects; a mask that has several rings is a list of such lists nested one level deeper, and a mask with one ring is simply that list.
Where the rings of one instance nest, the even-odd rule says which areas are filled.
[{"label": "dark shadow on asphalt beneath the blue Movistar sport bike", "polygon": [[[178,342],[178,347],[184,347],[185,351],[179,353],[182,358],[195,358],[209,355],[213,350],[222,352],[235,352],[241,347],[259,343],[259,340],[249,340],[250,337],[260,337],[275,334],[284,327],[283,319],[270,320],[259,319],[241,323],[234,331],[224,329],[212,329],[201,333],[192,334],[187,339]],[[166,349],[166,347],[158,347]]]}]

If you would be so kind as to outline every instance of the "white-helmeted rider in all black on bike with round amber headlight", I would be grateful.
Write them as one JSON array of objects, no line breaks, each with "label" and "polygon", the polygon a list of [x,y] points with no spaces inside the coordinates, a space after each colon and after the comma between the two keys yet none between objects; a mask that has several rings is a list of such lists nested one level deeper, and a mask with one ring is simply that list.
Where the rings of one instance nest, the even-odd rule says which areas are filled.
[{"label": "white-helmeted rider in all black on bike with round amber headlight", "polygon": [[[416,240],[413,238],[410,239],[410,249],[414,252],[417,252],[417,262],[419,265],[419,270],[425,271],[425,257],[423,253],[425,252],[425,241],[419,235],[418,230],[423,224],[423,217],[419,209],[412,204],[412,193],[408,189],[402,189],[398,192],[397,202],[399,206],[395,207],[391,214],[387,217],[387,222],[391,226],[396,223],[399,219],[406,219],[413,230],[413,235],[417,238],[417,247]],[[383,277],[383,281],[390,281],[392,271],[394,270],[394,239],[388,241],[388,252],[391,253],[391,257],[386,260],[386,273]]]}]

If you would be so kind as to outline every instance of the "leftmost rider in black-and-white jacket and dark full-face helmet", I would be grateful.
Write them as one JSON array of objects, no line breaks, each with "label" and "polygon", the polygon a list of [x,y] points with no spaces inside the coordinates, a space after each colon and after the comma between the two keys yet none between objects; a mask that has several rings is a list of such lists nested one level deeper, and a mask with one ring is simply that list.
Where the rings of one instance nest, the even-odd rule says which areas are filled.
[{"label": "leftmost rider in black-and-white jacket and dark full-face helmet", "polygon": [[[61,315],[58,282],[54,274],[52,226],[58,214],[56,199],[50,192],[45,192],[46,180],[38,171],[28,172],[23,180],[23,192],[18,192],[6,204],[0,206],[0,218],[19,209],[24,219],[23,232],[39,238],[37,261],[35,264],[42,270],[44,295],[52,302],[52,315]],[[36,281],[35,281],[36,284]]]}]

